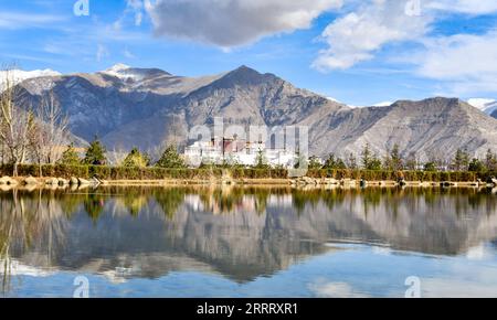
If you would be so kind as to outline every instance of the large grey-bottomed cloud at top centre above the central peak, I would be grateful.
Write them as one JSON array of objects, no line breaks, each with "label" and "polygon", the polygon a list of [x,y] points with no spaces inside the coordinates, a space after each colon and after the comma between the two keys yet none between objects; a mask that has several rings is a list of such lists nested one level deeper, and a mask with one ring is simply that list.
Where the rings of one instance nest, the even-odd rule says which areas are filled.
[{"label": "large grey-bottomed cloud at top centre above the central peak", "polygon": [[232,47],[308,29],[342,0],[146,0],[145,6],[159,36]]}]

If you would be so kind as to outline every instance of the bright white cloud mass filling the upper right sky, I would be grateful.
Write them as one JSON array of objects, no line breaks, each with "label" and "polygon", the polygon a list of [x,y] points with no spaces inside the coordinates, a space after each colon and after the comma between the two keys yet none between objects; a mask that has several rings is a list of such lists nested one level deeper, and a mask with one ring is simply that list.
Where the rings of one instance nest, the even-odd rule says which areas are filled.
[{"label": "bright white cloud mass filling the upper right sky", "polygon": [[[313,67],[328,72],[347,70],[374,58],[391,43],[413,42],[423,47],[388,56],[390,62],[410,63],[415,74],[440,81],[441,95],[470,96],[497,92],[497,30],[485,34],[430,34],[445,13],[470,15],[497,12],[496,0],[424,0],[420,14],[409,14],[416,0],[370,0],[330,23],[321,34],[327,49],[319,52]],[[496,25],[497,28],[497,25]]]}]

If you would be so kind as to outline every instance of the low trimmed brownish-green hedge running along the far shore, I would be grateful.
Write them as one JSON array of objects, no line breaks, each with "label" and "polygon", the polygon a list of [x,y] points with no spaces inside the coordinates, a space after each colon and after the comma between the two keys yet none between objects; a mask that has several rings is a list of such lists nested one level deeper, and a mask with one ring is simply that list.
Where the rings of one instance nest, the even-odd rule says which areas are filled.
[{"label": "low trimmed brownish-green hedge running along the far shore", "polygon": [[[12,173],[12,164],[0,166],[1,175]],[[161,180],[161,179],[209,179],[221,178],[229,174],[234,179],[286,179],[288,170],[278,169],[247,169],[234,167],[223,169],[209,167],[201,169],[168,169],[158,167],[106,167],[106,166],[67,166],[67,164],[44,164],[42,166],[43,177],[56,177],[70,179],[72,177],[91,179],[98,177],[104,180]],[[39,177],[38,164],[19,166],[19,175]],[[406,181],[433,181],[433,182],[473,182],[477,179],[489,181],[497,177],[497,172],[438,172],[438,171],[387,171],[387,170],[350,170],[350,169],[315,169],[309,170],[307,177],[315,179],[332,178],[341,179],[364,179],[368,181],[399,180],[404,178]]]}]

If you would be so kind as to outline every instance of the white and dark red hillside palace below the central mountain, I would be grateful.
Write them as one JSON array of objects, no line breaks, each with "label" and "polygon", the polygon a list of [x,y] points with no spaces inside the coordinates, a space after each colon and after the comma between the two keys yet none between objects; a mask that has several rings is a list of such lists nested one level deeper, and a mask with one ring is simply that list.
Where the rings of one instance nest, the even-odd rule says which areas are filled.
[{"label": "white and dark red hillside palace below the central mountain", "polygon": [[295,163],[296,153],[286,149],[266,148],[262,141],[250,142],[236,138],[213,138],[210,141],[197,141],[184,150],[189,166],[201,163],[254,166],[262,152],[264,161],[269,166],[290,168]]}]

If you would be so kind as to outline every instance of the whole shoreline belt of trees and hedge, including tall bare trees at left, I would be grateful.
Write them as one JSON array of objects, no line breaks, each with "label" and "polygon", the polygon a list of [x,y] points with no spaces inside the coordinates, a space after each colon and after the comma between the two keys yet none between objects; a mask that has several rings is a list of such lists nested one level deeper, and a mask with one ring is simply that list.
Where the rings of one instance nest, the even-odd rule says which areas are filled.
[{"label": "whole shoreline belt of trees and hedge, including tall bare trees at left", "polygon": [[[223,163],[202,163],[188,168],[175,145],[165,143],[155,154],[134,148],[120,152],[109,161],[104,145],[95,137],[87,148],[76,148],[71,141],[68,119],[52,92],[46,92],[29,109],[22,108],[17,96],[12,73],[4,72],[0,93],[0,184],[102,183],[106,181],[209,181],[293,183],[293,184],[366,184],[367,182],[405,183],[469,183],[490,185],[497,177],[497,154],[488,150],[484,159],[472,158],[457,150],[453,159],[430,157],[421,162],[415,153],[405,158],[395,145],[385,154],[378,156],[369,145],[360,154],[339,158],[296,154],[293,168],[272,167],[263,152],[253,166],[241,166],[234,160]],[[65,146],[65,147],[64,147]],[[109,166],[109,164],[113,166]],[[306,179],[292,177],[305,175]],[[12,178],[9,178],[12,177]]]}]

